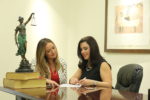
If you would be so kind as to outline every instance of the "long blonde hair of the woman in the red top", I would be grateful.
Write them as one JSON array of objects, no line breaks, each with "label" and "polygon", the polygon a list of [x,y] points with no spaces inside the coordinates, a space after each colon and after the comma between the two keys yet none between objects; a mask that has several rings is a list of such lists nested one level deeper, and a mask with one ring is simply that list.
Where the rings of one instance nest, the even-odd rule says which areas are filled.
[{"label": "long blonde hair of the woman in the red top", "polygon": [[[54,44],[54,42],[52,40],[50,40],[48,38],[43,38],[39,41],[39,43],[37,45],[37,49],[36,49],[36,71],[38,71],[42,77],[51,78],[48,62],[47,62],[47,59],[45,56],[45,54],[46,54],[45,53],[45,46],[47,45],[47,43]],[[54,46],[55,46],[55,44],[54,44]],[[57,48],[56,48],[56,51],[57,51]],[[58,71],[60,68],[60,61],[58,59],[58,52],[57,52],[56,59],[54,59],[54,63],[55,63],[56,70]]]}]

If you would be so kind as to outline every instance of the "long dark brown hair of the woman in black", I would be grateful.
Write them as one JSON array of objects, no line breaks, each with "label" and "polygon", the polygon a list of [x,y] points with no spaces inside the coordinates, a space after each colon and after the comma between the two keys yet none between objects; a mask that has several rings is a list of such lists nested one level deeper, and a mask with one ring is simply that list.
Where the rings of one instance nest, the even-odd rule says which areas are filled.
[{"label": "long dark brown hair of the woman in black", "polygon": [[105,61],[105,59],[100,54],[99,47],[98,47],[96,40],[92,36],[86,36],[86,37],[82,38],[78,43],[77,53],[78,53],[78,57],[80,59],[79,64],[78,64],[79,68],[84,69],[84,67],[87,65],[87,62],[88,62],[81,55],[80,44],[82,42],[86,42],[90,46],[91,67],[94,67],[98,63]]}]

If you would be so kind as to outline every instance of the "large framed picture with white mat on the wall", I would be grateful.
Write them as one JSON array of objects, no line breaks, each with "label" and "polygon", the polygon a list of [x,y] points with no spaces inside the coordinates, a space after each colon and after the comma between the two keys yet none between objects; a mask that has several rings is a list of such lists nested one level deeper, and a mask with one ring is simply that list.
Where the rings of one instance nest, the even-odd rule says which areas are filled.
[{"label": "large framed picture with white mat on the wall", "polygon": [[106,0],[105,52],[150,53],[150,1]]}]

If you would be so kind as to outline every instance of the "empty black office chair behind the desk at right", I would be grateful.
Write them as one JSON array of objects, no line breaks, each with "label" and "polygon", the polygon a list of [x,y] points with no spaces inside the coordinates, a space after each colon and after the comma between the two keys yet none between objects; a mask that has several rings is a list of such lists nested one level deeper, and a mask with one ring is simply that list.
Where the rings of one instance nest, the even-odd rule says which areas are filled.
[{"label": "empty black office chair behind the desk at right", "polygon": [[117,74],[115,88],[131,92],[139,92],[143,78],[143,68],[138,64],[128,64],[121,67]]}]

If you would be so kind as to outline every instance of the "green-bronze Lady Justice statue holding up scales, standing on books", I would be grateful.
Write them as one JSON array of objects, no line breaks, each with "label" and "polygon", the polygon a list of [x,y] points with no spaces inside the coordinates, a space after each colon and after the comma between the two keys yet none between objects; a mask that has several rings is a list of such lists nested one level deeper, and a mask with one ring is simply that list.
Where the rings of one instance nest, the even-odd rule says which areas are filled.
[{"label": "green-bronze Lady Justice statue holding up scales, standing on books", "polygon": [[26,25],[31,21],[31,26],[36,26],[34,15],[35,13],[31,13],[25,22],[23,17],[18,17],[19,25],[15,29],[15,43],[18,48],[16,56],[21,56],[21,61],[15,72],[33,72],[25,54],[27,50]]}]

